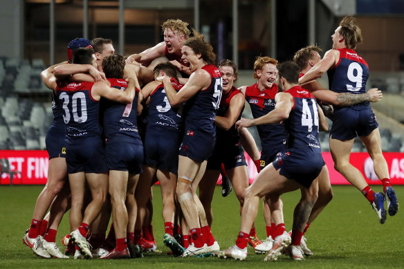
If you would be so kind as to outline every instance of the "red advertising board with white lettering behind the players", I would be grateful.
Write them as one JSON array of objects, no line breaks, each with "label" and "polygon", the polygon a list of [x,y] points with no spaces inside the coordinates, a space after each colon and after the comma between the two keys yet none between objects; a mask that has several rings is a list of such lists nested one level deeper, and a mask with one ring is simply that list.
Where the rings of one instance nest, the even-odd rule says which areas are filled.
[{"label": "red advertising board with white lettering behind the players", "polygon": [[[323,152],[322,156],[329,169],[331,184],[345,185],[349,184],[347,180],[334,169],[333,159],[329,152]],[[393,185],[404,185],[404,154],[385,152],[383,154],[389,167],[390,179]],[[0,185],[32,185],[46,184],[48,178],[48,153],[42,150],[0,150],[1,159],[1,178]],[[9,167],[5,167],[5,161],[8,161]],[[246,154],[248,163],[248,175],[250,183],[257,176],[257,169],[251,158]],[[369,154],[364,152],[355,152],[351,154],[351,164],[358,168],[363,174],[369,185],[381,184],[373,169],[373,162]],[[12,176],[12,180],[10,180]]]}]

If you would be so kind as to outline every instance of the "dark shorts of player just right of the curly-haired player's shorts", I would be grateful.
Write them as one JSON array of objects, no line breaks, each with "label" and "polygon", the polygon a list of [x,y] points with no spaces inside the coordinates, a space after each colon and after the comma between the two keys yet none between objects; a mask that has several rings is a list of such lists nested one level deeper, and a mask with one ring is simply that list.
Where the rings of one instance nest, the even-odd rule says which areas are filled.
[{"label": "dark shorts of player just right of the curly-haired player's shorts", "polygon": [[246,165],[246,156],[244,156],[244,149],[241,145],[228,145],[217,143],[214,147],[212,156],[208,159],[206,169],[220,170],[223,163],[226,169],[232,169],[238,166]]}]

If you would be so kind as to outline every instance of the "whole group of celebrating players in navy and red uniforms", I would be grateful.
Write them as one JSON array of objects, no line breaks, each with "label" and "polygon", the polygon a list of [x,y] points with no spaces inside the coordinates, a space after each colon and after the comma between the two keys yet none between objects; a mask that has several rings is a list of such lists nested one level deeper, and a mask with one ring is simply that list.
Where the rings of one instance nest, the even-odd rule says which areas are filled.
[{"label": "whole group of celebrating players in navy and red uniforms", "polygon": [[[46,135],[48,182],[23,240],[35,254],[129,259],[155,251],[152,186],[158,181],[163,243],[174,257],[244,260],[250,244],[255,253],[266,254],[264,261],[281,254],[302,260],[313,254],[304,233],[333,198],[319,140],[319,131],[329,129],[326,115],[333,122],[336,170],[367,198],[380,223],[387,213],[396,214],[398,201],[370,106],[383,95],[365,90],[369,66],[354,50],[362,35],[353,17],[342,19],[323,59],[318,46],[302,48],[293,61],[280,64],[257,57],[257,82],[238,89],[236,64],[230,59],[216,64],[203,35],[180,19],[162,28],[164,41],[127,58],[115,54],[111,39],[74,39],[68,62],[42,71],[53,91],[54,118]],[[315,81],[326,71],[329,89]],[[253,119],[241,118],[245,101]],[[257,126],[261,153],[251,126]],[[383,192],[374,192],[349,163],[356,136],[374,160]],[[244,151],[259,172],[251,185]],[[210,230],[220,174],[230,180],[241,214],[235,245],[225,250]],[[302,197],[287,232],[281,195],[296,189]],[[261,198],[267,235],[262,241],[255,232]],[[70,232],[62,253],[55,238],[68,210]]]}]

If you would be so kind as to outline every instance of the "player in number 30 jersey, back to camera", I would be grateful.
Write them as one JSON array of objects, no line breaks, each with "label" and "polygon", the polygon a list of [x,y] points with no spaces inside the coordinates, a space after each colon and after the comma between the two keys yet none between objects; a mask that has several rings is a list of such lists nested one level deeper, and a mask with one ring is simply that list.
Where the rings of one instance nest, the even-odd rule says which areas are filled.
[{"label": "player in number 30 jersey, back to camera", "polygon": [[[55,77],[71,75],[72,69],[75,73],[93,71],[95,61],[92,49],[79,48],[73,53],[74,64],[55,68]],[[134,70],[125,68],[125,71],[129,77],[134,77]],[[55,92],[64,109],[66,124],[66,163],[72,201],[70,223],[73,232],[70,239],[84,257],[90,259],[92,255],[86,242],[86,233],[100,214],[108,191],[108,167],[101,139],[99,101],[104,97],[130,104],[135,96],[135,81],[129,78],[126,91],[110,88],[104,82],[65,82],[55,86]],[[82,216],[86,182],[93,200]]]}]

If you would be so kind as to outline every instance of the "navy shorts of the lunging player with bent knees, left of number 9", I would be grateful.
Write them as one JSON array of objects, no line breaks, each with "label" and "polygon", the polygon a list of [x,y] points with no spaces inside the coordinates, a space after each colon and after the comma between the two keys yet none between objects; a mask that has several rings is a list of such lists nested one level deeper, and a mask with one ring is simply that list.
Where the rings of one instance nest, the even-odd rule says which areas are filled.
[{"label": "navy shorts of the lunging player with bent knees, left of number 9", "polygon": [[276,160],[273,161],[273,167],[280,169],[279,174],[288,179],[296,180],[300,185],[307,188],[318,177],[324,165],[321,154],[302,156],[294,154],[293,149],[286,149],[286,151],[279,153]]}]

